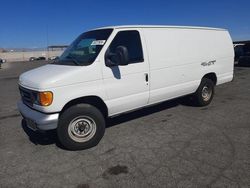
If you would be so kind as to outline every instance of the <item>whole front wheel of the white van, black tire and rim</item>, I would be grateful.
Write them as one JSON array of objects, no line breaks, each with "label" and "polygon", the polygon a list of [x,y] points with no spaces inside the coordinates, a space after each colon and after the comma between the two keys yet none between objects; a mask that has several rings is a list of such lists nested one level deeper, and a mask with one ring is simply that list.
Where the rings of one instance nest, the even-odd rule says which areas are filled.
[{"label": "whole front wheel of the white van, black tire and rim", "polygon": [[[86,138],[79,137],[79,134],[77,135],[79,131],[80,134],[82,134],[83,131],[81,130],[81,128],[79,128],[78,123],[74,123],[77,121],[79,121],[78,123],[81,124],[80,126],[85,126],[85,128],[86,125],[89,127],[95,127],[95,129],[89,128],[89,130],[92,130],[92,132],[89,133],[89,136],[91,136],[89,140],[84,141],[83,139]],[[84,129],[83,133],[85,133],[85,128],[82,128]],[[94,147],[100,142],[100,140],[104,135],[104,132],[105,132],[105,119],[103,117],[103,114],[96,107],[90,104],[78,104],[66,109],[60,115],[57,127],[58,139],[60,143],[68,150],[83,150]],[[81,140],[81,142],[79,140]]]}]

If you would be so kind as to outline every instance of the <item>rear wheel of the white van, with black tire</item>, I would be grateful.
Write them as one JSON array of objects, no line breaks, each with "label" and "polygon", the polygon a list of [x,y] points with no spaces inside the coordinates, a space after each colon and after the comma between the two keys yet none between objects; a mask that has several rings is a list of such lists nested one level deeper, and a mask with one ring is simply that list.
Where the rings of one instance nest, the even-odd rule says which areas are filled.
[{"label": "rear wheel of the white van, with black tire", "polygon": [[[204,97],[204,90],[208,90],[209,94]],[[207,106],[211,103],[214,96],[214,82],[208,78],[203,78],[201,83],[193,94],[193,100],[196,106]]]}]

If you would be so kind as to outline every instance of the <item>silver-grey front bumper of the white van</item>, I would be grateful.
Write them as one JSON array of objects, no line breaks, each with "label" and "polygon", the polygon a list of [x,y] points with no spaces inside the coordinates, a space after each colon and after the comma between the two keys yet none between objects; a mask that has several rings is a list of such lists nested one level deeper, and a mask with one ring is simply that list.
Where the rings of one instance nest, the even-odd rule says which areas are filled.
[{"label": "silver-grey front bumper of the white van", "polygon": [[59,113],[44,114],[29,108],[22,101],[19,101],[17,106],[30,129],[51,130],[57,128]]}]

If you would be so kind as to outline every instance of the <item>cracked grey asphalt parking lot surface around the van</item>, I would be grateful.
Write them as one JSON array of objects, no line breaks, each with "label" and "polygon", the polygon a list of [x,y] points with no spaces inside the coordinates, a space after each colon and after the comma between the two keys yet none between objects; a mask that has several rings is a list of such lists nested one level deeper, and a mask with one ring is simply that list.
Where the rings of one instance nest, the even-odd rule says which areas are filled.
[{"label": "cracked grey asphalt parking lot surface around the van", "polygon": [[250,68],[207,107],[177,99],[115,117],[98,146],[67,151],[16,107],[18,76],[44,63],[0,70],[0,187],[250,187]]}]

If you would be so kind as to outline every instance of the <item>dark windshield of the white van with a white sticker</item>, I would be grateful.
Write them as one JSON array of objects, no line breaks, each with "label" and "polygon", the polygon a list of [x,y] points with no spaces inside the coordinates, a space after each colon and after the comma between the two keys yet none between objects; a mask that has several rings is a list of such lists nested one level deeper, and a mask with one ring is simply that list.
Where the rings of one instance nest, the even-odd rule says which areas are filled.
[{"label": "dark windshield of the white van with a white sticker", "polygon": [[112,30],[100,29],[81,34],[53,64],[79,66],[92,64]]}]

